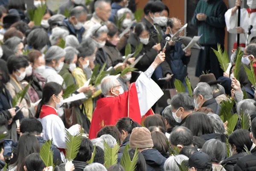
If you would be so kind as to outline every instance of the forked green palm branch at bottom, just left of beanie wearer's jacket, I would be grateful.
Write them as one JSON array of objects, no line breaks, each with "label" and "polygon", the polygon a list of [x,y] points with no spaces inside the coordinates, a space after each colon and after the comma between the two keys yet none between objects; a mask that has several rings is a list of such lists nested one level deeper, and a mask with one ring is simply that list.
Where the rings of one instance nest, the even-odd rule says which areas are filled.
[{"label": "forked green palm branch at bottom, just left of beanie wearer's jacket", "polygon": [[121,165],[123,166],[125,171],[135,171],[136,166],[137,166],[137,160],[139,158],[138,148],[136,148],[136,150],[135,150],[134,157],[133,157],[132,161],[131,161],[131,158],[129,155],[129,148],[130,148],[130,145],[126,144],[124,153],[121,158]]}]

